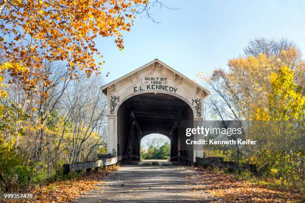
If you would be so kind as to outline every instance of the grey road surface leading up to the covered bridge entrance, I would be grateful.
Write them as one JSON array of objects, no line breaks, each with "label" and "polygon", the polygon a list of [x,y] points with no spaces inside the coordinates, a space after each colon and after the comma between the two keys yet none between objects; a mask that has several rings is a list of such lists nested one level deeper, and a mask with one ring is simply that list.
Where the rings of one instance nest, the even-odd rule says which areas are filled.
[{"label": "grey road surface leading up to the covered bridge entrance", "polygon": [[[141,164],[141,165],[140,165]],[[196,173],[191,167],[162,162],[123,165],[101,184],[74,201],[78,203],[197,203],[213,200],[194,188],[189,179]]]}]

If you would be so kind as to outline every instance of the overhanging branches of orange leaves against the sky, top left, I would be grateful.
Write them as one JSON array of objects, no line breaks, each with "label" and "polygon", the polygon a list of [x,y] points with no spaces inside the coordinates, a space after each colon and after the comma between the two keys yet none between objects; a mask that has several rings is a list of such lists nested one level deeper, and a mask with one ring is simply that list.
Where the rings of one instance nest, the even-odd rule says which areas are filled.
[{"label": "overhanging branches of orange leaves against the sky, top left", "polygon": [[[94,56],[98,36],[115,38],[124,48],[122,31],[133,25],[134,6],[146,0],[4,0],[0,2],[0,50],[3,62],[20,63],[31,76],[11,74],[27,87],[47,80],[45,61],[67,61],[69,70],[98,71]],[[1,62],[0,62],[1,63]],[[1,65],[1,64],[0,64]],[[41,71],[42,70],[42,71]],[[23,74],[24,75],[24,74]],[[73,75],[71,75],[73,76]]]}]

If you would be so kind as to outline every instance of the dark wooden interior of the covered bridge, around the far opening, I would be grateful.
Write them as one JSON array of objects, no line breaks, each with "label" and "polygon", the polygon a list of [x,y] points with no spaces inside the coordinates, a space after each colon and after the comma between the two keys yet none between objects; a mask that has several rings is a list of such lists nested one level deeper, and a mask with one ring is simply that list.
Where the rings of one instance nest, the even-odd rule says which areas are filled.
[{"label": "dark wooden interior of the covered bridge, around the far opening", "polygon": [[[141,139],[159,133],[170,139],[172,161],[192,160],[191,149],[180,150],[180,121],[193,125],[193,112],[183,100],[167,95],[146,93],[131,97],[118,109],[118,156],[140,159]],[[183,135],[185,136],[185,135]]]}]

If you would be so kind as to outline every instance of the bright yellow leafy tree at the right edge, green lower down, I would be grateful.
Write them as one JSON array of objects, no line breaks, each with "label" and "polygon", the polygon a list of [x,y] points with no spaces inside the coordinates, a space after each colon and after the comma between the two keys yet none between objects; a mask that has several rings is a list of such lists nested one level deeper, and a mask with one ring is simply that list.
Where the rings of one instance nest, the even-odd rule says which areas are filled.
[{"label": "bright yellow leafy tree at the right edge, green lower down", "polygon": [[[271,75],[271,92],[267,107],[253,109],[252,136],[265,143],[255,156],[254,163],[265,173],[280,178],[282,185],[300,185],[304,177],[304,88],[294,82],[294,71],[288,67]],[[300,187],[302,187],[300,185]]]}]

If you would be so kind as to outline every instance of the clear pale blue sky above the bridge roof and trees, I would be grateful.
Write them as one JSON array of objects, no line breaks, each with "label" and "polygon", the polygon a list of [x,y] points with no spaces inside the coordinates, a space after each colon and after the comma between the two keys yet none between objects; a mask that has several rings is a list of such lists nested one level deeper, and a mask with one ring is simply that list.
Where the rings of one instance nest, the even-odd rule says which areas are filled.
[{"label": "clear pale blue sky above the bridge roof and trees", "polygon": [[[230,58],[243,54],[250,39],[287,38],[305,50],[303,0],[163,0],[179,9],[154,9],[154,23],[137,16],[124,33],[125,49],[113,38],[97,40],[104,55],[103,73],[111,82],[155,58],[195,79],[198,72],[226,67]],[[191,2],[191,3],[190,3]]]}]

